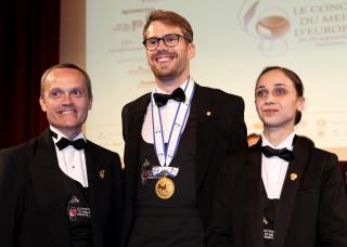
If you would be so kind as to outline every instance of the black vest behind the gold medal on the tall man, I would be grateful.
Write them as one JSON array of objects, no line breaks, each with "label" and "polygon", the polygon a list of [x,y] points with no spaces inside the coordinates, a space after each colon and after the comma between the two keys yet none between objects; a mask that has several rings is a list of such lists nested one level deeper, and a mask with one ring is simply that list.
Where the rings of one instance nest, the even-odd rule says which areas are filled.
[{"label": "black vest behind the gold medal on the tall man", "polygon": [[152,167],[160,166],[153,144],[140,143],[139,177],[134,223],[128,247],[203,247],[204,230],[196,207],[196,110],[191,108],[176,156],[170,167],[178,167],[175,193],[168,199],[155,193],[158,178]]}]

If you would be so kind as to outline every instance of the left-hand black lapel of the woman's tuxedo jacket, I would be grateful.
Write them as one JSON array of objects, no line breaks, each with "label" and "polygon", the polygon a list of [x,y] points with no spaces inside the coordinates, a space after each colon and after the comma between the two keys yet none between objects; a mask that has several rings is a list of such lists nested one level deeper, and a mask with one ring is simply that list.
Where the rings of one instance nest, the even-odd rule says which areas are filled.
[{"label": "left-hand black lapel of the woman's tuxedo jacket", "polygon": [[261,200],[261,153],[256,151],[256,147],[249,148],[246,159],[246,207],[248,207],[247,221],[252,232],[254,246],[262,246],[262,200]]}]

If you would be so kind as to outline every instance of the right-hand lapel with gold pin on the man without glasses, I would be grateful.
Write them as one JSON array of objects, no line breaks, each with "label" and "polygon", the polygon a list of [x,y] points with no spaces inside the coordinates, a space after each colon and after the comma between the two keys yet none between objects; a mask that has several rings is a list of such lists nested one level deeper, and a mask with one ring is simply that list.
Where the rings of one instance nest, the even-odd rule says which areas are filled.
[{"label": "right-hand lapel with gold pin on the man without glasses", "polygon": [[94,246],[103,246],[102,243],[102,212],[104,206],[102,204],[107,204],[107,202],[102,202],[99,198],[105,198],[103,193],[108,193],[104,191],[103,178],[107,174],[107,170],[103,167],[103,160],[93,151],[90,144],[87,142],[87,147],[85,150],[86,166],[87,166],[87,177],[88,177],[88,187],[90,192],[90,210],[91,210],[91,221],[93,225],[93,238]]}]

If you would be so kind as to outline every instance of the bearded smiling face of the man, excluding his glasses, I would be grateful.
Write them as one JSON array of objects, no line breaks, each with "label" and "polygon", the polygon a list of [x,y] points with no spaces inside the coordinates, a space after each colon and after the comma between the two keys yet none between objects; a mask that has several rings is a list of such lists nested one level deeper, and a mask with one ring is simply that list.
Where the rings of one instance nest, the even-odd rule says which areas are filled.
[{"label": "bearded smiling face of the man, excluding his glasses", "polygon": [[[145,38],[162,38],[169,34],[183,36],[179,27],[154,21],[146,29]],[[194,44],[188,43],[183,38],[180,38],[178,44],[174,48],[165,46],[163,40],[160,40],[156,50],[146,50],[147,63],[158,86],[181,83],[187,80],[190,73],[190,60],[194,55]]]}]

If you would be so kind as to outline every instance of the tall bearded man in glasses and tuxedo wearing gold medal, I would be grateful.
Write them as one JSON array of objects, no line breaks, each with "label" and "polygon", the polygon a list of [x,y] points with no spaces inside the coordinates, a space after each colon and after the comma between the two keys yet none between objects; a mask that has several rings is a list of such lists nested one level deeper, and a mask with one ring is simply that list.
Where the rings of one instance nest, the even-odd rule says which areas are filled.
[{"label": "tall bearded man in glasses and tuxedo wearing gold medal", "polygon": [[152,93],[123,109],[126,205],[124,245],[204,246],[222,156],[246,147],[244,102],[190,75],[190,23],[153,11],[143,44]]}]

